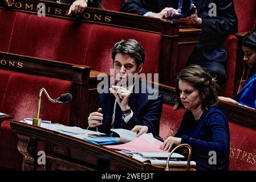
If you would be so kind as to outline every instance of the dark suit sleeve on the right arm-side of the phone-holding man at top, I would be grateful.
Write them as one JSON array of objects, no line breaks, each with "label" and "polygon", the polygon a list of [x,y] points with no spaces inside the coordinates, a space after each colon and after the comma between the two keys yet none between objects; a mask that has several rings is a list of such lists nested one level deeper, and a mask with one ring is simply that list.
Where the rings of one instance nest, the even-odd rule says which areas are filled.
[{"label": "dark suit sleeve on the right arm-side of the phone-holding man at top", "polygon": [[[207,6],[206,6],[207,5]],[[209,3],[206,3],[202,12],[202,31],[210,38],[224,37],[237,32],[237,15],[234,10],[233,0],[217,0],[217,16],[209,16]],[[199,15],[200,16],[200,15]]]}]

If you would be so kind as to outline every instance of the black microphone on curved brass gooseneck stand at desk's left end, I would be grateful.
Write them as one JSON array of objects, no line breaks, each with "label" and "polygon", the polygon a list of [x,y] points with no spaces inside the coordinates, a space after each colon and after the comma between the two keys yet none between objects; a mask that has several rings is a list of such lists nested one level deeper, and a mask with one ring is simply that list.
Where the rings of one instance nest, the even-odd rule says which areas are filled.
[{"label": "black microphone on curved brass gooseneck stand at desk's left end", "polygon": [[40,113],[40,105],[41,105],[41,97],[42,97],[42,93],[46,94],[46,97],[48,98],[49,101],[51,102],[60,102],[60,103],[66,103],[72,100],[72,95],[70,93],[64,93],[62,94],[60,97],[58,97],[57,99],[52,99],[49,94],[47,93],[46,89],[42,88],[39,91],[39,97],[38,97],[38,106],[37,106],[37,110],[36,110],[36,117],[33,118],[33,125],[35,126],[40,126],[41,125],[41,121],[42,119],[39,118],[39,113]]}]

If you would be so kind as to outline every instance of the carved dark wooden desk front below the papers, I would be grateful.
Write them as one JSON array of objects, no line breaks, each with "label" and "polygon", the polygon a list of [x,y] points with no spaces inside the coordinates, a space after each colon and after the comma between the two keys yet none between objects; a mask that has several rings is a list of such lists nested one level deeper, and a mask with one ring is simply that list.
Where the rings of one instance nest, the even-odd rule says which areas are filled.
[{"label": "carved dark wooden desk front below the papers", "polygon": [[[10,122],[11,128],[19,137],[18,150],[24,156],[22,170],[95,170],[97,159],[110,160],[111,171],[164,171],[164,167],[143,163],[82,139],[60,134],[56,131],[27,125],[17,121]],[[46,164],[38,165],[38,151],[46,154]],[[185,170],[185,168],[172,168]]]}]

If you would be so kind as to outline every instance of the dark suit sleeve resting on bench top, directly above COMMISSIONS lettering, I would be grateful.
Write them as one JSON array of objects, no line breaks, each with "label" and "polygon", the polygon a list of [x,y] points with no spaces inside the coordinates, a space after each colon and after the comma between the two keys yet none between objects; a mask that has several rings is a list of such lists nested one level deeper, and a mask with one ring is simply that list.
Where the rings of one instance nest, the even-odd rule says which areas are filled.
[{"label": "dark suit sleeve resting on bench top, directly above COMMISSIONS lettering", "polygon": [[119,11],[144,15],[148,11],[153,11],[153,7],[154,1],[152,0],[127,0],[121,5]]}]

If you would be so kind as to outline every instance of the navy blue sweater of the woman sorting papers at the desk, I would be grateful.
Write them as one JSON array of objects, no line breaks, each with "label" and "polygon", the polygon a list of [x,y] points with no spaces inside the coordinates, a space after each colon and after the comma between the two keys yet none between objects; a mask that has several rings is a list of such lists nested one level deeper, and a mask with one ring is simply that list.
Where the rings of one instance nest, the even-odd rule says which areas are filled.
[{"label": "navy blue sweater of the woman sorting papers at the desk", "polygon": [[[181,143],[192,147],[192,159],[196,161],[198,169],[227,169],[230,136],[225,115],[221,111],[210,109],[200,120],[198,126],[192,128],[186,113],[176,137],[181,138]],[[216,164],[209,163],[213,155],[210,151],[216,152]]]}]

